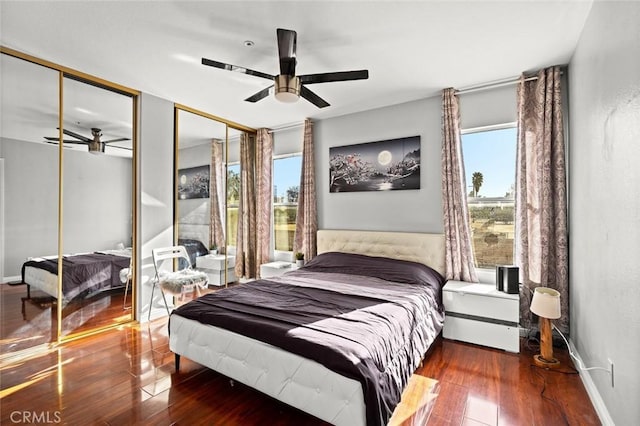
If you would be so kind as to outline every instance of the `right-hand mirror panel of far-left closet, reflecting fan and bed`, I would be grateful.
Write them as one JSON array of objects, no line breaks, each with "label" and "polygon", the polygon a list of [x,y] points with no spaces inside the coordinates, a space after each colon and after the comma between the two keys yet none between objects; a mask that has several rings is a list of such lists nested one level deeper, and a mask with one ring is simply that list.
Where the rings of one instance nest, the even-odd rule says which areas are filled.
[{"label": "right-hand mirror panel of far-left closet, reflecting fan and bed", "polygon": [[133,102],[71,78],[63,90],[60,306],[61,333],[68,336],[131,319]]}]

